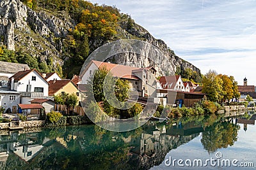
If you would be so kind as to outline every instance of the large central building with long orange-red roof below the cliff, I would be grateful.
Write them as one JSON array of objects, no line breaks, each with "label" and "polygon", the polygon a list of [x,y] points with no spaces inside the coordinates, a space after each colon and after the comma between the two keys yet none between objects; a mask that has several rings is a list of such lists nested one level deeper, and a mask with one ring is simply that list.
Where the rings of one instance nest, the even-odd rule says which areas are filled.
[{"label": "large central building with long orange-red roof below the cliff", "polygon": [[93,72],[102,67],[106,67],[116,78],[128,80],[131,89],[138,91],[139,96],[157,96],[156,69],[154,67],[139,68],[91,60],[81,73],[81,84],[87,84]]}]

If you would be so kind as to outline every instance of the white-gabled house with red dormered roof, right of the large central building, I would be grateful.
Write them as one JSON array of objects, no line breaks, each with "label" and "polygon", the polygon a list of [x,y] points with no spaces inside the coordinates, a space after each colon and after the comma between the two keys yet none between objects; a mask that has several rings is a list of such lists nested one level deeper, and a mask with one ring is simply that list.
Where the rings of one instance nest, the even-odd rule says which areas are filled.
[{"label": "white-gabled house with red dormered roof, right of the large central building", "polygon": [[185,86],[183,81],[181,80],[180,75],[175,76],[161,76],[159,81],[163,87],[163,89],[172,89],[185,92]]}]

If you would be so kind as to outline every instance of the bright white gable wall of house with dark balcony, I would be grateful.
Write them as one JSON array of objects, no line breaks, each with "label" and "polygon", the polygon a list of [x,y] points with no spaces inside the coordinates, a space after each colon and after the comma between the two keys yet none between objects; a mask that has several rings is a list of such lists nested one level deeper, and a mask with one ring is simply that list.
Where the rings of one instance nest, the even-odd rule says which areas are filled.
[{"label": "bright white gable wall of house with dark balcony", "polygon": [[[32,81],[32,76],[36,76],[36,81]],[[19,82],[15,83],[14,90],[17,90],[18,92],[26,92],[27,85],[29,84],[31,85],[31,92],[35,92],[35,87],[42,87],[44,88],[44,97],[48,96],[49,85],[47,81],[36,71],[27,74]]]}]

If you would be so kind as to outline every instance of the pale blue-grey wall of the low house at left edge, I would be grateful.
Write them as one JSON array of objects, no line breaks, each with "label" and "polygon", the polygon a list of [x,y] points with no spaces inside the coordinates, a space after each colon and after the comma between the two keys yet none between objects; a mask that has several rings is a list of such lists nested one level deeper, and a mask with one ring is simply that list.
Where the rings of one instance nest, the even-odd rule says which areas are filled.
[{"label": "pale blue-grey wall of the low house at left edge", "polygon": [[[15,96],[15,101],[10,101],[9,97]],[[4,112],[10,108],[12,110],[12,106],[17,106],[20,103],[20,94],[0,94],[0,106],[3,106]]]}]

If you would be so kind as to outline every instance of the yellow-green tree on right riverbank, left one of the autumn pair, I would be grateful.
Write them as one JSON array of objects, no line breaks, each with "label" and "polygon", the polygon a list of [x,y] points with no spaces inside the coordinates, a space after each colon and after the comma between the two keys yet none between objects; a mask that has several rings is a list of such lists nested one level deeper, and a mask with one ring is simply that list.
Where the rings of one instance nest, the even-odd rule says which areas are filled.
[{"label": "yellow-green tree on right riverbank, left one of the autumn pair", "polygon": [[202,92],[207,94],[207,97],[210,101],[219,102],[222,101],[222,83],[223,81],[219,76],[217,76],[216,71],[209,71],[205,74],[203,79],[203,89]]}]

